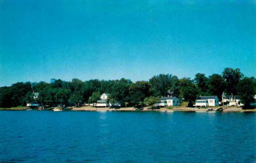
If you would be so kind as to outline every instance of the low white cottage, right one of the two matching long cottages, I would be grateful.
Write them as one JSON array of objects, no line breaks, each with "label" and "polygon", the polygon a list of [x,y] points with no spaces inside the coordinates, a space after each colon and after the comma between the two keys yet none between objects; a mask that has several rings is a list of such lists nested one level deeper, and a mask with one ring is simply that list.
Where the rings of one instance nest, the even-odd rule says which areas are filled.
[{"label": "low white cottage, right one of the two matching long cottages", "polygon": [[195,101],[195,107],[219,106],[219,98],[217,96],[201,96]]}]

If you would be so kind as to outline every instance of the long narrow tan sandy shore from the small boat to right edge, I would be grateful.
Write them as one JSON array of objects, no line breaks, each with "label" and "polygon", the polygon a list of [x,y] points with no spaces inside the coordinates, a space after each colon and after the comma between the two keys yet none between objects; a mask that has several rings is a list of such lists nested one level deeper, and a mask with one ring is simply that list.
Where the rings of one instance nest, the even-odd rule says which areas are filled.
[{"label": "long narrow tan sandy shore from the small boat to right edge", "polygon": [[[220,108],[219,107],[214,107],[216,108]],[[210,107],[209,107],[210,108]],[[112,109],[112,108],[95,108],[95,107],[73,107],[73,111],[98,111],[98,112],[104,112],[104,111],[108,111],[108,112],[120,112],[120,111],[136,111],[136,108],[133,107],[123,107],[120,109]],[[161,108],[161,109],[148,109],[148,107],[144,107],[143,110],[139,110],[136,112],[174,112],[174,111],[181,111],[181,112],[206,112],[208,108],[188,108],[188,107],[173,107],[171,109],[167,109],[167,108]],[[256,109],[246,109],[243,110],[240,107],[223,107],[223,112],[256,112]]]}]

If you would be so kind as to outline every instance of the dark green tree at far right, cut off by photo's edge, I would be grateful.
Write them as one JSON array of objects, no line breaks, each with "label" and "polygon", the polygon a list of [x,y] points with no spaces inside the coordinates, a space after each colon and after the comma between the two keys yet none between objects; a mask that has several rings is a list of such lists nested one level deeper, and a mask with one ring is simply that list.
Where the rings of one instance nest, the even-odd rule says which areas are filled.
[{"label": "dark green tree at far right, cut off by photo's edge", "polygon": [[249,106],[250,103],[254,102],[253,96],[255,95],[254,81],[252,78],[243,78],[237,85],[238,95],[241,102],[245,106]]}]

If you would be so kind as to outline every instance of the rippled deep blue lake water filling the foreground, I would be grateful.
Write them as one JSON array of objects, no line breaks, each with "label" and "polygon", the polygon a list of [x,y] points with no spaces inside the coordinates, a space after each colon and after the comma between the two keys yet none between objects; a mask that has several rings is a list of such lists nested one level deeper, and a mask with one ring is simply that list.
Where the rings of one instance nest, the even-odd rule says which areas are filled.
[{"label": "rippled deep blue lake water filling the foreground", "polygon": [[0,111],[1,162],[253,162],[255,113]]}]

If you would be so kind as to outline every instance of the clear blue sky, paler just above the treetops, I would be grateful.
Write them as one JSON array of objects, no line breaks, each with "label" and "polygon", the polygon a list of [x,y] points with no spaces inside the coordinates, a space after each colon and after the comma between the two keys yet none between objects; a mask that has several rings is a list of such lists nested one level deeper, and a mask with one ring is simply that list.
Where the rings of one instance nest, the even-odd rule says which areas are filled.
[{"label": "clear blue sky, paler just above the treetops", "polygon": [[0,0],[0,86],[225,67],[255,77],[255,2]]}]

